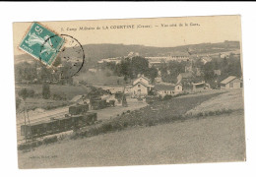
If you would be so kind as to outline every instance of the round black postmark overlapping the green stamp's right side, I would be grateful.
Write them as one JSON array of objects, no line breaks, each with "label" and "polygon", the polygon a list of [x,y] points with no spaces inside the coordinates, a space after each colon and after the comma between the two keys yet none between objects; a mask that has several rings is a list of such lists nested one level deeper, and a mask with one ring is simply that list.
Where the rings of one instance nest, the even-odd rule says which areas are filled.
[{"label": "round black postmark overlapping the green stamp's right side", "polygon": [[[71,35],[60,34],[64,38],[65,42],[63,46],[59,46],[55,49],[56,58],[51,67],[55,72],[60,74],[61,79],[69,79],[76,76],[84,66],[85,52],[81,43]],[[41,60],[44,56],[50,54],[47,49],[48,45],[56,46],[58,40],[55,37],[59,35],[52,35],[45,39],[44,43],[40,47]],[[41,60],[42,61],[42,60]]]}]

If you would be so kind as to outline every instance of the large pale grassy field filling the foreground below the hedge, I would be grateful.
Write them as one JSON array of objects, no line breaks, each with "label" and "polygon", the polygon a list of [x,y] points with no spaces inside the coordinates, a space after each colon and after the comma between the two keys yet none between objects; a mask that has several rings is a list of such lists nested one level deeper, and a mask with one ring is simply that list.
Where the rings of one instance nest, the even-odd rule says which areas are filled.
[{"label": "large pale grassy field filling the foreground below the hedge", "polygon": [[19,151],[20,168],[241,161],[243,113],[135,128]]}]

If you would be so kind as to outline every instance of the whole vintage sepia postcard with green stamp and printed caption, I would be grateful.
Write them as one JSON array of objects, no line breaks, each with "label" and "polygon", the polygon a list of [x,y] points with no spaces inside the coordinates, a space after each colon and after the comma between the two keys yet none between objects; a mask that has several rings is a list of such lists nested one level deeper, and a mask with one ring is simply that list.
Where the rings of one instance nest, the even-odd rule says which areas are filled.
[{"label": "whole vintage sepia postcard with green stamp and printed caption", "polygon": [[13,34],[19,168],[246,160],[240,16]]}]

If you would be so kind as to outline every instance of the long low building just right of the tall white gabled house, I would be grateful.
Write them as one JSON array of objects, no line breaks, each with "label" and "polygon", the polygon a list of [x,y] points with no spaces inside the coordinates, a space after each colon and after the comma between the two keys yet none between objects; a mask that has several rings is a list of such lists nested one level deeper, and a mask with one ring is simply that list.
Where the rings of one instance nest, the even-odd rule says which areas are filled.
[{"label": "long low building just right of the tall white gabled house", "polygon": [[154,89],[157,90],[158,94],[162,97],[165,95],[176,95],[183,91],[182,85],[180,84],[160,84],[156,85]]}]

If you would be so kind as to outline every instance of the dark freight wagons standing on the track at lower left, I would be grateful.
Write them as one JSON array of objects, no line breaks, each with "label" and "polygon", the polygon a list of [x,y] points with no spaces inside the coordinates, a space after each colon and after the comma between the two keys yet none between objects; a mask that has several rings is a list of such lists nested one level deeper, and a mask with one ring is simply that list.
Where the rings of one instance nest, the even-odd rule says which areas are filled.
[{"label": "dark freight wagons standing on the track at lower left", "polygon": [[89,104],[77,104],[69,107],[69,114],[61,118],[51,118],[21,126],[21,135],[26,139],[35,139],[69,130],[78,130],[97,120],[96,112],[89,112]]}]

